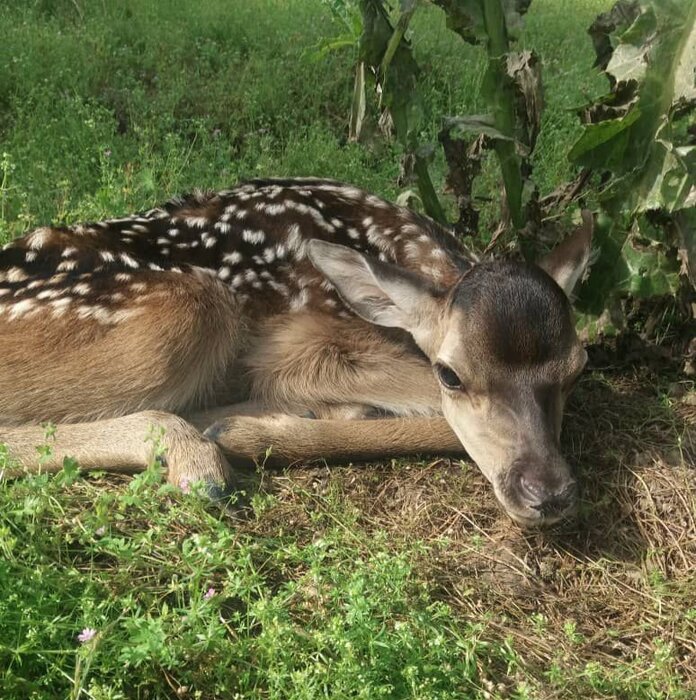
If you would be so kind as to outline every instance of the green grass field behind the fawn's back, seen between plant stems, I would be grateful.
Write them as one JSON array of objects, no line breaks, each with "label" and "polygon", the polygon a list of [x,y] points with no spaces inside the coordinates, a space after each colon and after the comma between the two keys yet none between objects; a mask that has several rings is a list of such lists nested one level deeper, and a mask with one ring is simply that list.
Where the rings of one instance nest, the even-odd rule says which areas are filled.
[{"label": "green grass field behind the fawn's back, seen between plant stems", "polygon": [[[536,163],[544,191],[569,174],[568,110],[595,94],[585,27],[607,2],[537,0],[523,44],[545,60]],[[397,147],[346,143],[354,51],[316,59],[342,30],[316,0],[0,2],[0,238],[49,221],[131,212],[256,175],[325,175],[395,196]],[[482,53],[432,8],[414,50],[430,114],[480,112]],[[434,166],[442,185],[443,163]],[[492,180],[482,187],[494,186]],[[485,192],[484,192],[485,193]]]}]

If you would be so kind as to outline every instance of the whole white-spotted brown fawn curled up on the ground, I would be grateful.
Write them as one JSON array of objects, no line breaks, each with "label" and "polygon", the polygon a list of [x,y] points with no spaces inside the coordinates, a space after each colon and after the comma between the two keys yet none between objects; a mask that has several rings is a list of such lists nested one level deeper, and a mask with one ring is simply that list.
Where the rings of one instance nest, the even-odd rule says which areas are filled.
[{"label": "whole white-spotted brown fawn curled up on the ground", "polygon": [[[523,525],[570,512],[559,451],[586,353],[568,295],[592,221],[540,266],[330,180],[264,180],[0,253],[0,441],[25,468],[168,479],[229,464],[466,451]],[[356,420],[371,418],[371,420]],[[58,423],[39,464],[41,421]],[[230,460],[230,462],[228,462]]]}]

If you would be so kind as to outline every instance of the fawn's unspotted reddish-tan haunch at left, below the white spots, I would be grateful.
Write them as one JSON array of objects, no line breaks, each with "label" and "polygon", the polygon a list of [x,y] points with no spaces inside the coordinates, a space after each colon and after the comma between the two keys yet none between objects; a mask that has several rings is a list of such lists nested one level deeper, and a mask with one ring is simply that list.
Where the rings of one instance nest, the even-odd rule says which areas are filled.
[{"label": "fawn's unspotted reddish-tan haunch at left, below the white spots", "polygon": [[0,425],[180,412],[221,393],[241,335],[227,288],[202,272],[134,280],[147,291],[112,323],[0,316]]}]

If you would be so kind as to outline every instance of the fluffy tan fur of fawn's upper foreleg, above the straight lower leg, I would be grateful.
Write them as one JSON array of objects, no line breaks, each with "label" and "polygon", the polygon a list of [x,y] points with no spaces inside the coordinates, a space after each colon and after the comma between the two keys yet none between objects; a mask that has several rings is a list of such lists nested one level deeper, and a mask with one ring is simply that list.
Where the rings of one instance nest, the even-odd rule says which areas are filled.
[{"label": "fluffy tan fur of fawn's upper foreleg, above the straight lower leg", "polygon": [[411,338],[358,318],[270,318],[254,333],[244,363],[252,398],[276,409],[324,415],[329,406],[357,404],[397,415],[439,412],[430,364]]}]

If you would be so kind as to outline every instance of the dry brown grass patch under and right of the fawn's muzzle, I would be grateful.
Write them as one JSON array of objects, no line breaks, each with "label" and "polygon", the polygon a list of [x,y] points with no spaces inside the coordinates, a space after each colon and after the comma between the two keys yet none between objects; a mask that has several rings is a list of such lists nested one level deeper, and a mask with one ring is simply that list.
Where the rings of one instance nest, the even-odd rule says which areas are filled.
[{"label": "dry brown grass patch under and right of the fawn's muzzle", "polygon": [[[602,669],[630,674],[641,659],[636,673],[676,673],[696,693],[696,408],[681,388],[669,399],[647,370],[581,382],[564,431],[584,493],[572,524],[524,533],[475,467],[439,459],[271,476],[275,505],[244,528],[309,541],[340,520],[385,530],[395,549],[422,541],[417,570],[437,597],[510,639],[524,676],[594,673],[601,685]],[[536,692],[579,692],[549,687]]]}]

